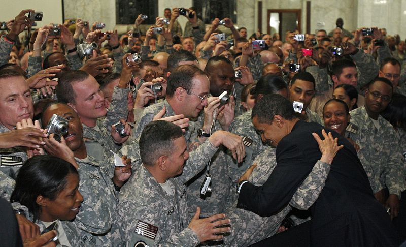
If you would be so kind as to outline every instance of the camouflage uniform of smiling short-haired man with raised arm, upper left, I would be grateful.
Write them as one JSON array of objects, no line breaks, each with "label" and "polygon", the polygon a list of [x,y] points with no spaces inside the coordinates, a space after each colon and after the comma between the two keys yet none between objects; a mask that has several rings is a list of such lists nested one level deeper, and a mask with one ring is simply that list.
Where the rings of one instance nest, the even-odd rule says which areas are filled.
[{"label": "camouflage uniform of smiling short-haired man with raised arm, upper left", "polygon": [[[110,103],[107,115],[104,119],[97,119],[98,128],[90,128],[83,125],[83,138],[85,139],[88,153],[99,161],[108,159],[111,156],[110,150],[117,152],[121,146],[114,143],[111,137],[111,125],[119,121],[120,118],[127,118],[128,88],[114,87],[112,102]],[[88,143],[88,142],[91,143]],[[90,146],[91,145],[91,146]],[[103,157],[100,157],[100,147],[103,148]]]}]

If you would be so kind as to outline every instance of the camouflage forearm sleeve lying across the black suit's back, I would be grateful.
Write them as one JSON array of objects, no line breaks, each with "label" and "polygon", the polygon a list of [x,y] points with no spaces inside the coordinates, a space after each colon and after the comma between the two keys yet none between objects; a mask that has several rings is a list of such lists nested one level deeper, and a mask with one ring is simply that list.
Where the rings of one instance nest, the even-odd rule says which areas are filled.
[{"label": "camouflage forearm sleeve lying across the black suit's back", "polygon": [[324,188],[331,165],[317,161],[312,172],[300,184],[289,204],[299,210],[308,210]]}]

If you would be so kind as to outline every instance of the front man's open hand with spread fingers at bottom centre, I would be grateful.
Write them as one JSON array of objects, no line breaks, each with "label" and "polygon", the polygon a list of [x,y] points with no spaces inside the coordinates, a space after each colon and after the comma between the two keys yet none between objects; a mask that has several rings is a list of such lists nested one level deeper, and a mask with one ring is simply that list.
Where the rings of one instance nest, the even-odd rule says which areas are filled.
[{"label": "front man's open hand with spread fingers at bottom centre", "polygon": [[221,239],[223,238],[223,235],[219,235],[219,233],[230,231],[230,227],[223,226],[228,225],[231,222],[230,219],[226,219],[224,213],[215,214],[204,219],[199,219],[199,217],[200,208],[197,207],[196,213],[190,221],[188,228],[192,229],[193,232],[196,233],[200,242]]}]

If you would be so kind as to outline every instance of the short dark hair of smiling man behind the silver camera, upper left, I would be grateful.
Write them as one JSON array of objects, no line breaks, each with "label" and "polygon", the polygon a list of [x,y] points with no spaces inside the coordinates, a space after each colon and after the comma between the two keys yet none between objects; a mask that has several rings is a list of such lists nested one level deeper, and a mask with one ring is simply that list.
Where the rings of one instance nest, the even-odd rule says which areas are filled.
[{"label": "short dark hair of smiling man behind the silver camera, upper left", "polygon": [[76,94],[72,85],[86,80],[90,75],[82,70],[66,71],[59,78],[56,86],[56,97],[63,103],[75,103]]}]

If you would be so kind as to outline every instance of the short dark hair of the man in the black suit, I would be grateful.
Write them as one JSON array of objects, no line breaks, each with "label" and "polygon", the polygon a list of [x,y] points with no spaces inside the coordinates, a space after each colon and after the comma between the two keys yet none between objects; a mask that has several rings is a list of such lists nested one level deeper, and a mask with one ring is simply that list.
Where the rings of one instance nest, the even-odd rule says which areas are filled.
[{"label": "short dark hair of the man in the black suit", "polygon": [[280,115],[286,120],[296,118],[292,103],[282,95],[265,95],[255,104],[251,118],[257,116],[258,122],[272,124],[275,115]]}]

